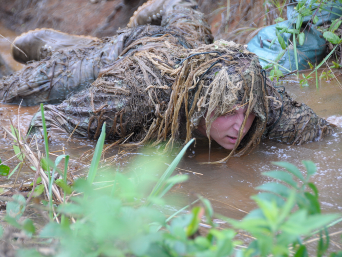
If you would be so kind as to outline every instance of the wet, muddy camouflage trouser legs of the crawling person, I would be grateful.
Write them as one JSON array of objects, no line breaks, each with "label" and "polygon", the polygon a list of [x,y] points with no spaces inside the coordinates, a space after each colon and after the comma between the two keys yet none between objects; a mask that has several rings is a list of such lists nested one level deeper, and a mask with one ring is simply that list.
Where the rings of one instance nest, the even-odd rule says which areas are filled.
[{"label": "wet, muddy camouflage trouser legs of the crawling person", "polygon": [[33,54],[47,57],[28,63],[24,69],[2,78],[2,102],[19,104],[22,101],[23,105],[60,103],[69,93],[81,91],[94,82],[102,67],[121,58],[127,52],[124,49],[140,38],[172,34],[186,48],[213,42],[210,26],[202,13],[174,4],[169,4],[166,10],[161,26],[125,28],[116,36],[94,41],[89,47]]}]

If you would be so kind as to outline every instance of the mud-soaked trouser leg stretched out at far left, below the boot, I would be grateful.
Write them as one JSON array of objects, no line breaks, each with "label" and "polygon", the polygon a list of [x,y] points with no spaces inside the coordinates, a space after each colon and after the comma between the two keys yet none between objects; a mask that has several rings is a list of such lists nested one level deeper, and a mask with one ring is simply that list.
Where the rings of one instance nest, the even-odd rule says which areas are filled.
[{"label": "mud-soaked trouser leg stretched out at far left, below the boot", "polygon": [[54,51],[42,61],[33,61],[1,79],[0,99],[23,105],[60,103],[94,82],[101,67],[122,52],[127,37],[122,33],[93,47]]}]

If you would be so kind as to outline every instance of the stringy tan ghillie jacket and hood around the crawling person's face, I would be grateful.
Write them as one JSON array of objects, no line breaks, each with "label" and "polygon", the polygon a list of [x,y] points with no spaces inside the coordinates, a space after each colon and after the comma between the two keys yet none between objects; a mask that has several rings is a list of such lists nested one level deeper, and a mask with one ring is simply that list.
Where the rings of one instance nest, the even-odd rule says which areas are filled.
[{"label": "stringy tan ghillie jacket and hood around the crawling person's face", "polygon": [[[210,139],[212,122],[236,104],[248,106],[245,120],[235,148],[220,162],[246,154],[262,137],[302,144],[332,132],[306,105],[279,93],[261,72],[257,56],[241,45],[217,41],[184,49],[177,38],[163,35],[142,38],[125,50],[124,58],[102,70],[91,88],[44,107],[52,135],[74,132],[97,139],[107,122],[109,140],[152,145],[167,140],[170,149],[176,140],[189,141],[202,118]],[[241,140],[250,113],[256,118]],[[40,113],[31,126],[31,132],[40,133]]]}]

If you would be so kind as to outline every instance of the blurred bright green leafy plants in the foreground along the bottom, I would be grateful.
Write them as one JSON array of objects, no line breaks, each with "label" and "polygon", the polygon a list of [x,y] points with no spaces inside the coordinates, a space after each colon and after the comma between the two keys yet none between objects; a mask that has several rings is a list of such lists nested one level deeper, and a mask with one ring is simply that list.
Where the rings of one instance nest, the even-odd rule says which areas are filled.
[{"label": "blurred bright green leafy plants in the foreground along the bottom", "polygon": [[[265,191],[253,196],[258,209],[241,221],[216,215],[232,224],[234,229],[215,228],[213,210],[206,199],[201,199],[204,207],[194,207],[191,213],[168,222],[169,219],[156,209],[156,205],[149,205],[147,185],[150,185],[151,173],[143,169],[141,174],[130,178],[120,173],[114,178],[106,178],[106,181],[115,182],[100,190],[87,180],[76,181],[73,189],[82,194],[57,208],[60,214],[65,215],[63,222],[50,222],[38,236],[59,240],[55,255],[58,257],[284,257],[290,256],[289,246],[294,256],[306,257],[308,254],[303,236],[326,226],[338,215],[321,214],[318,190],[309,182],[316,172],[315,164],[303,162],[307,169],[305,176],[292,164],[275,164],[284,167],[287,172],[264,173],[282,183],[270,182],[258,187]],[[175,176],[164,182],[170,184],[183,180],[184,177]],[[157,203],[158,195],[154,197],[152,201]],[[13,200],[7,205],[6,220],[27,234],[34,234],[32,222],[28,219],[18,221],[25,209],[24,199],[17,195]],[[206,236],[201,236],[197,230],[204,217],[212,228]],[[245,249],[239,248],[239,242],[234,241],[238,229],[255,237]],[[322,256],[327,249],[328,242],[322,240],[317,256]],[[18,256],[42,255],[34,249],[21,249]],[[341,253],[334,256],[341,256]]]}]

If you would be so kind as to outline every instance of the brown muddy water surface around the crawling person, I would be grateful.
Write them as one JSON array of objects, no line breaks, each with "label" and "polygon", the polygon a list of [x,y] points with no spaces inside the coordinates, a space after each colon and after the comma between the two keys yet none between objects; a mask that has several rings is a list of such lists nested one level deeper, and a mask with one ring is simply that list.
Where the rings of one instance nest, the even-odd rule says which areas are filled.
[{"label": "brown muddy water surface around the crawling person", "polygon": [[[4,33],[4,30],[0,30]],[[2,45],[1,45],[2,44]],[[6,44],[0,41],[0,53],[7,58],[8,49]],[[14,61],[11,61],[12,67],[16,66]],[[339,82],[342,84],[342,78],[339,77]],[[342,89],[339,83],[334,80],[330,83],[321,81],[319,89],[316,89],[314,81],[310,82],[308,87],[300,87],[298,79],[295,76],[287,77],[287,80],[279,82],[285,86],[286,91],[297,101],[304,102],[309,105],[321,117],[327,118],[336,124],[342,123]],[[0,119],[9,127],[9,115],[12,118],[13,124],[18,124],[21,131],[26,131],[31,117],[39,109],[38,107],[21,107],[18,115],[18,107],[14,105],[0,105]],[[5,161],[13,156],[13,148],[8,139],[1,135],[0,143],[0,158]],[[264,171],[276,169],[272,164],[275,161],[287,161],[298,165],[303,169],[302,160],[312,160],[318,167],[318,173],[313,177],[320,190],[321,207],[324,212],[342,212],[342,132],[341,129],[336,129],[336,132],[321,142],[305,144],[301,146],[283,145],[270,140],[262,141],[256,149],[247,156],[233,158],[228,163],[224,164],[199,164],[209,160],[208,144],[198,142],[196,147],[191,146],[191,149],[186,153],[177,172],[189,174],[188,182],[173,188],[175,195],[181,195],[181,199],[174,203],[173,210],[179,209],[184,205],[192,202],[197,198],[197,195],[203,195],[211,200],[216,212],[229,216],[231,218],[242,218],[247,212],[255,208],[250,196],[256,193],[254,187],[268,181],[267,178],[261,175]],[[59,151],[63,147],[66,154],[71,158],[71,169],[73,175],[85,174],[85,163],[79,161],[79,158],[87,150],[93,149],[95,142],[92,140],[71,138],[61,138],[53,140],[50,143],[50,151]],[[40,142],[40,148],[43,149],[43,143]],[[115,156],[122,148],[111,148],[107,155]],[[153,155],[152,153],[148,155]],[[61,154],[61,152],[56,152]],[[145,153],[146,154],[146,153]],[[220,160],[228,155],[228,152],[213,145],[211,149],[210,160]],[[118,155],[119,156],[119,155]],[[141,156],[141,151],[131,151],[126,154],[129,156],[130,162],[134,156]],[[169,162],[170,163],[170,162]],[[10,161],[8,164],[13,169],[18,161]],[[128,164],[127,164],[128,165]],[[167,168],[164,163],[161,167]],[[125,166],[125,165],[124,165]],[[121,166],[122,168],[122,166]],[[196,173],[200,174],[196,174]],[[14,181],[6,177],[0,178],[0,184],[9,184]],[[29,168],[24,167],[19,177],[19,182],[32,178],[33,173]],[[171,194],[172,195],[172,194]],[[341,230],[342,225],[337,225],[330,229],[331,232]],[[336,241],[340,242],[339,237]],[[333,246],[334,250],[338,246]]]}]

